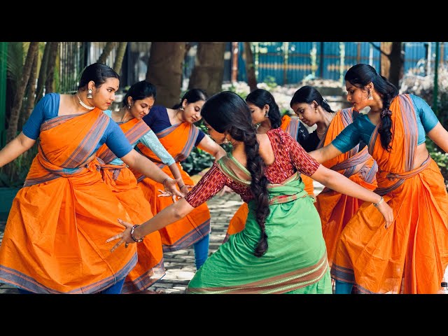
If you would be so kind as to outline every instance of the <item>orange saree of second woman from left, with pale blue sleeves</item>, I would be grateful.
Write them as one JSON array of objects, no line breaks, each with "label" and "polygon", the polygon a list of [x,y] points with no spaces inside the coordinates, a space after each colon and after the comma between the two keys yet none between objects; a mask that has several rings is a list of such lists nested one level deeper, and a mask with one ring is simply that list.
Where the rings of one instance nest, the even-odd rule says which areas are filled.
[{"label": "orange saree of second woman from left, with pale blue sleeves", "polygon": [[[150,130],[144,121],[135,118],[127,123],[120,124],[120,128],[130,144],[135,144]],[[99,148],[97,156],[99,160],[106,160],[106,162],[116,159],[116,155],[105,144]],[[123,204],[132,223],[144,223],[153,218],[149,202],[145,199],[141,188],[137,186],[137,179],[135,179],[134,174],[125,163],[123,165],[111,165],[103,162],[101,173],[103,181]],[[160,233],[156,231],[146,235],[144,241],[136,245],[138,262],[126,276],[122,294],[138,293],[145,290],[165,275]]]}]

